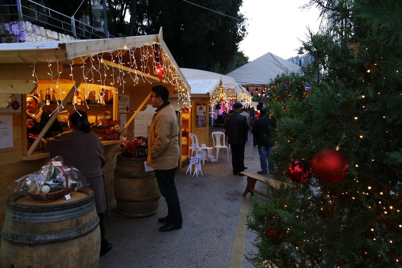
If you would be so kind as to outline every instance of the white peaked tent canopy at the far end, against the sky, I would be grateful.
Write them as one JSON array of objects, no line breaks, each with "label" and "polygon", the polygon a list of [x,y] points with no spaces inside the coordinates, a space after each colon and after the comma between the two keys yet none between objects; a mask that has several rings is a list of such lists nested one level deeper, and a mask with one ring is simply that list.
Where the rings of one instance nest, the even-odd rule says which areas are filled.
[{"label": "white peaked tent canopy at the far end, against the sky", "polygon": [[299,69],[298,65],[267,53],[231,71],[227,76],[233,77],[240,84],[268,84],[278,74],[297,72]]}]

